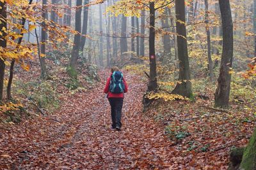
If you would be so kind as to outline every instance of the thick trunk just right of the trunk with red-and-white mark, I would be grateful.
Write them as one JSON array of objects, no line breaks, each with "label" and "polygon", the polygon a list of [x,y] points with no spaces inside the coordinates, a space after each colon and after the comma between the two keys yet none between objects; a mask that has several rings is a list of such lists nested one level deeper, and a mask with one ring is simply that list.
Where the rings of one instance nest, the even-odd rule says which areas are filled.
[{"label": "thick trunk just right of the trunk with red-and-white mark", "polygon": [[[179,94],[185,97],[191,97],[192,88],[191,88],[191,81],[190,81],[184,0],[175,0],[175,12],[177,17],[176,27],[177,27],[177,34],[178,34],[177,45],[178,45],[178,57],[179,57],[179,81],[181,81],[181,83],[177,83],[172,93]],[[184,23],[181,23],[179,21],[182,21]]]}]

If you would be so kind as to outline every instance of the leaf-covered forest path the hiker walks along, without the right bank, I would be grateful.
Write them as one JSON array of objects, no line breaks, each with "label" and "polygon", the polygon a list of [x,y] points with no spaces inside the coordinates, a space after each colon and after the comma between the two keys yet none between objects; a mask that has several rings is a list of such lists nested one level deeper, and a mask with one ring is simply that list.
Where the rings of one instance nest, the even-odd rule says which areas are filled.
[{"label": "leaf-covered forest path the hiker walks along, without the right bank", "polygon": [[[167,168],[173,157],[163,128],[141,114],[145,85],[125,74],[122,131],[111,127],[110,108],[102,94],[109,74],[92,90],[67,94],[54,117],[28,120],[6,129],[0,138],[0,167],[19,169],[154,169]],[[138,84],[139,83],[139,84]],[[106,127],[104,127],[106,111]],[[1,136],[0,136],[1,137]]]}]

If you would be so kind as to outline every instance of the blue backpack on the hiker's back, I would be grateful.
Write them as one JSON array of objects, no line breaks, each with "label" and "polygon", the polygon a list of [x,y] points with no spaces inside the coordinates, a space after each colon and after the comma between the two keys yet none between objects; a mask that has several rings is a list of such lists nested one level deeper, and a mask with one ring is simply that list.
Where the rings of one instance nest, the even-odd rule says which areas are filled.
[{"label": "blue backpack on the hiker's back", "polygon": [[120,71],[114,71],[111,75],[109,91],[113,94],[123,93],[124,92],[124,81],[123,73]]}]

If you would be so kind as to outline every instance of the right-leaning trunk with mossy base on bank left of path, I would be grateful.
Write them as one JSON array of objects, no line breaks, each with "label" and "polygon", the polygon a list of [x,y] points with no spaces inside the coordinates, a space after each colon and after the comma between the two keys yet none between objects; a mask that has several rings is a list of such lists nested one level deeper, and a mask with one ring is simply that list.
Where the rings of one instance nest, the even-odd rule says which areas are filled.
[{"label": "right-leaning trunk with mossy base on bank left of path", "polygon": [[[76,6],[81,6],[82,5],[82,0],[77,0],[76,1]],[[76,10],[76,31],[81,33],[81,13],[82,10],[81,8],[78,8]],[[70,67],[68,68],[68,74],[72,76],[73,78],[77,78],[77,60],[79,57],[79,43],[81,41],[81,34],[78,33],[74,37],[74,45],[72,48],[72,53],[71,53],[71,59],[70,59]]]}]

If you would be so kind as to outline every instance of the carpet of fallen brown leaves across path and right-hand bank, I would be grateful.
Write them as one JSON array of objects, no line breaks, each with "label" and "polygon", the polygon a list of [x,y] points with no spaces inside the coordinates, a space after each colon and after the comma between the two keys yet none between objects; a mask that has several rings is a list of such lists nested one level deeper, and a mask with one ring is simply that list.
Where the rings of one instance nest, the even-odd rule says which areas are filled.
[{"label": "carpet of fallen brown leaves across path and right-hand bank", "polygon": [[[232,120],[228,113],[220,118],[220,111],[199,110],[198,103],[156,104],[148,114],[142,113],[145,83],[126,74],[129,93],[123,127],[113,131],[109,104],[102,94],[108,75],[100,72],[102,82],[90,90],[72,94],[58,89],[66,95],[51,116],[1,125],[1,169],[227,169],[229,148],[245,145],[250,136],[237,134],[253,129],[249,121],[243,122],[243,128],[239,122],[228,123]],[[182,122],[188,122],[186,127]]]}]

